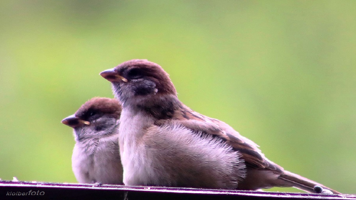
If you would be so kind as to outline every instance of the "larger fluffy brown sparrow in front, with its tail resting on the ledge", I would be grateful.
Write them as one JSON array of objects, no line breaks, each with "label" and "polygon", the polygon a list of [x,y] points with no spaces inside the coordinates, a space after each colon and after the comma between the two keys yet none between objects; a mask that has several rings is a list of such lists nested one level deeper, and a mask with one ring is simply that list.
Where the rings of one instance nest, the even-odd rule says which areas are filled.
[{"label": "larger fluffy brown sparrow in front, with its tail resting on the ledge", "polygon": [[284,170],[228,124],[185,106],[168,73],[156,63],[130,60],[100,75],[111,82],[122,104],[119,145],[125,185],[237,190],[295,187],[340,194]]}]

